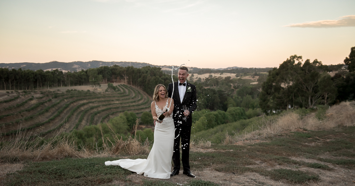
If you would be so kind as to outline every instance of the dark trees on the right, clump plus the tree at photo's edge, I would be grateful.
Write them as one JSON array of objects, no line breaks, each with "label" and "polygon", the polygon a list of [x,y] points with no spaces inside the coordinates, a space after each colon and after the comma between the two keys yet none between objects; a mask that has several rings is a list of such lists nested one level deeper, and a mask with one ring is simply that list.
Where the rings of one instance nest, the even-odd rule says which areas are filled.
[{"label": "dark trees on the right, clump plus the tree at photo's edge", "polygon": [[338,69],[333,77],[329,75],[333,69],[321,61],[307,59],[303,64],[302,61],[302,56],[290,56],[279,68],[269,71],[259,96],[264,112],[312,108],[354,99],[355,47],[344,60],[348,71]]}]

